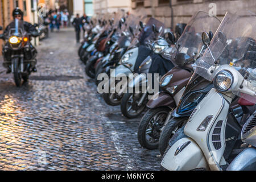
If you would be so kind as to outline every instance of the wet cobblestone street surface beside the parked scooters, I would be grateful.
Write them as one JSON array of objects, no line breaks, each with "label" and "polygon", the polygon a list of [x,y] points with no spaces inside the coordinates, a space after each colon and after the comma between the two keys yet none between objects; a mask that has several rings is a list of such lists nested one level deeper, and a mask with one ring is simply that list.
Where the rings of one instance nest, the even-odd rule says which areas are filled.
[{"label": "wet cobblestone street surface beside the parked scooters", "polygon": [[140,119],[108,106],[77,56],[73,28],[38,49],[38,72],[16,88],[0,58],[0,170],[158,170],[137,139]]}]

